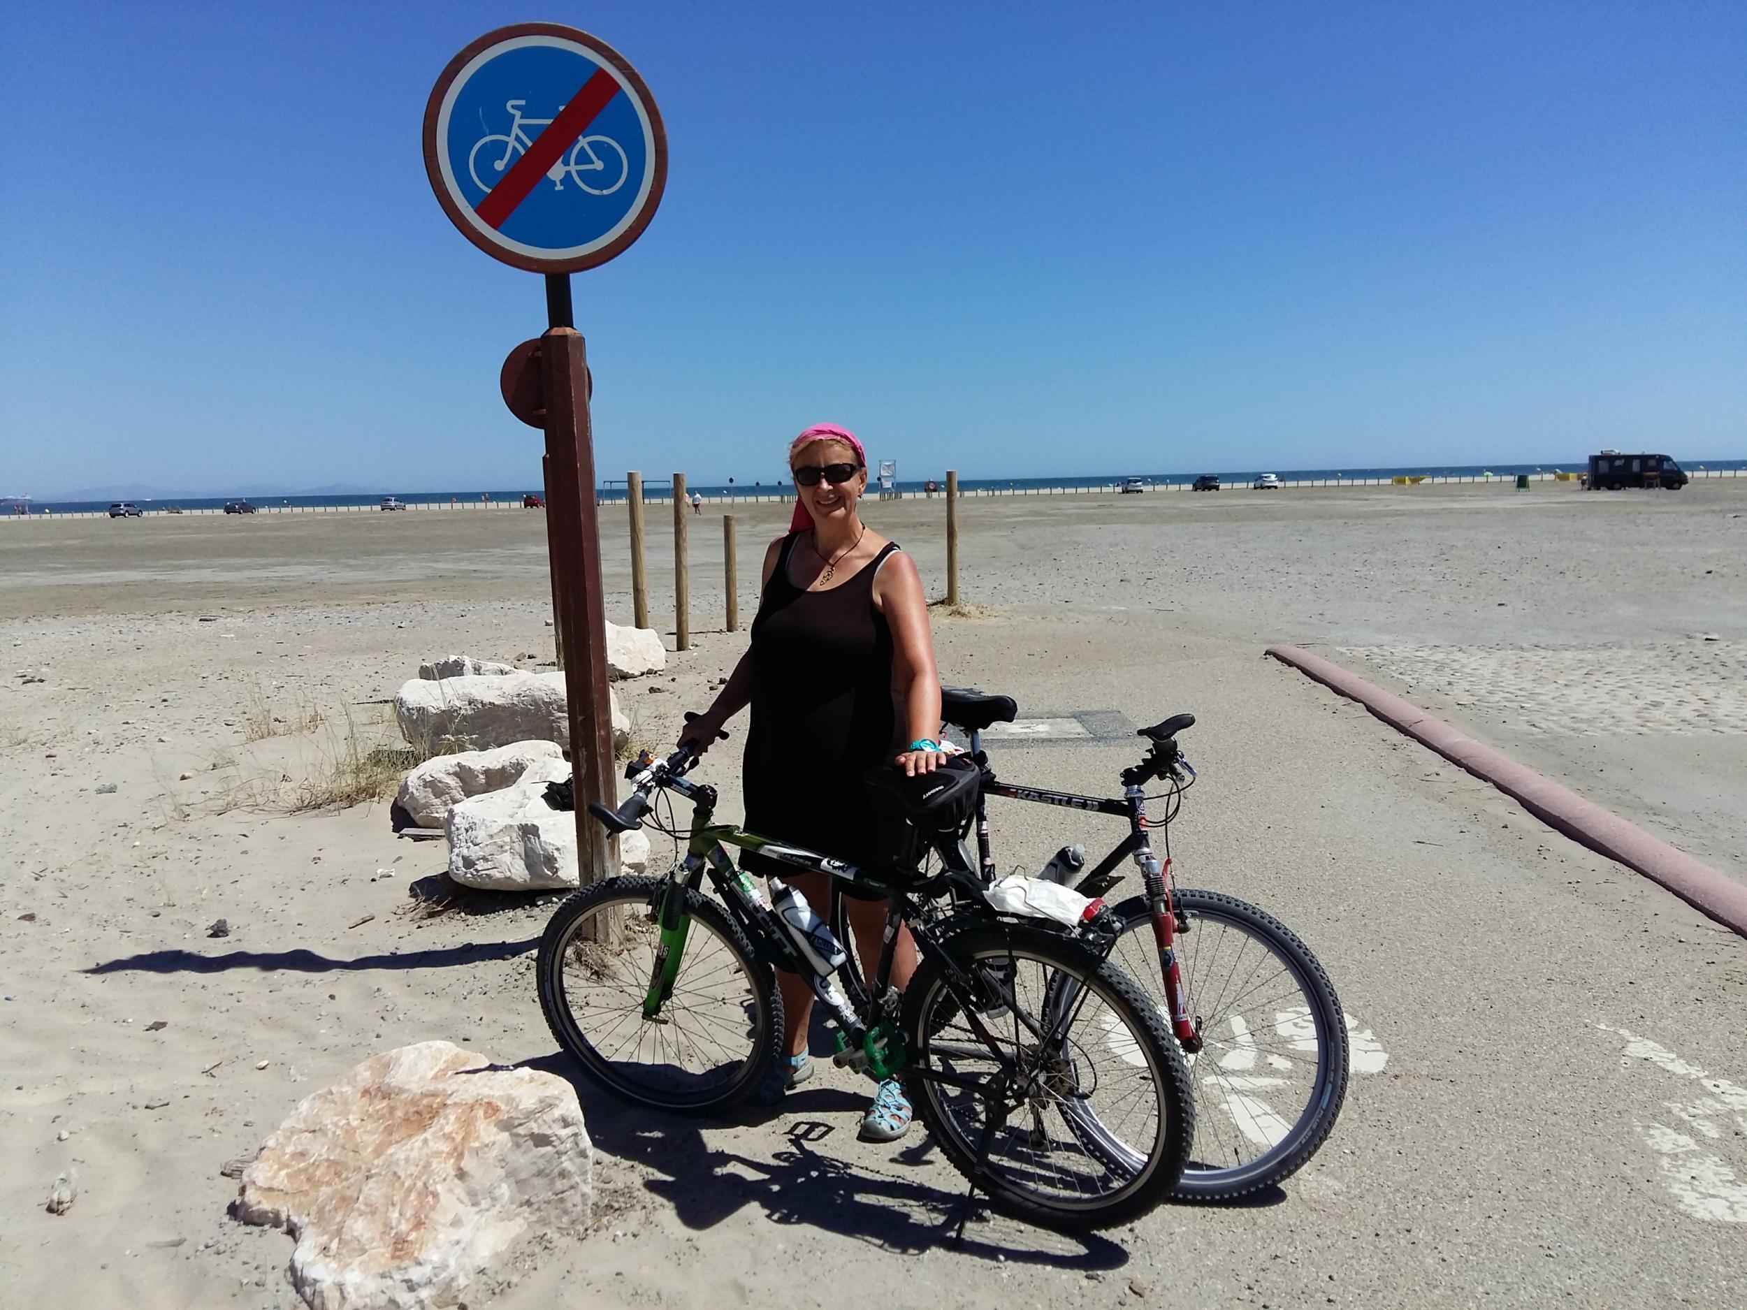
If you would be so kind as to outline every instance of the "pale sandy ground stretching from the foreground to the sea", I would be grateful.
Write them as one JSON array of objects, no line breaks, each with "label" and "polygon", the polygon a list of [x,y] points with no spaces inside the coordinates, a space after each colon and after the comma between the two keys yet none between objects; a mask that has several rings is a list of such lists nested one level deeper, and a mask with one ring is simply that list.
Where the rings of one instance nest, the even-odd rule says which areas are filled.
[{"label": "pale sandy ground stretching from the foreground to the sea", "polygon": [[[943,505],[867,510],[943,594]],[[742,624],[786,517],[737,508]],[[669,512],[648,527],[671,652]],[[688,527],[694,648],[620,685],[650,746],[744,650],[720,515]],[[603,538],[629,624],[622,508]],[[531,978],[550,896],[421,910],[442,842],[397,838],[384,803],[300,809],[353,744],[397,741],[384,702],[421,660],[549,665],[545,548],[538,512],[0,521],[0,1305],[288,1310],[292,1244],[225,1216],[220,1170],[297,1100],[428,1038],[566,1071]],[[1198,716],[1179,875],[1270,908],[1333,976],[1364,1062],[1331,1142],[1254,1207],[1085,1240],[980,1219],[950,1247],[956,1174],[919,1128],[856,1142],[840,1071],[720,1123],[578,1076],[596,1223],[468,1305],[1738,1298],[1747,941],[1261,648],[1315,650],[1747,879],[1747,479],[984,500],[961,559],[949,685],[1029,718]],[[730,817],[734,746],[706,763]],[[1115,730],[998,746],[1003,776],[1088,791],[1134,756]],[[994,823],[1031,868],[1116,838]],[[77,1203],[45,1214],[68,1167]]]}]

